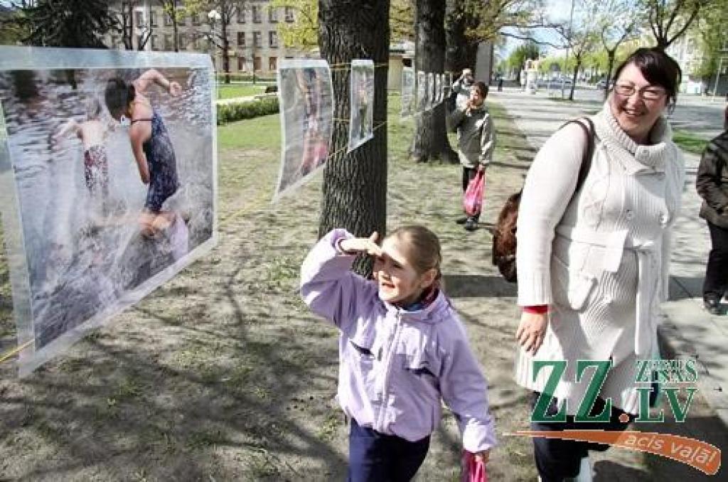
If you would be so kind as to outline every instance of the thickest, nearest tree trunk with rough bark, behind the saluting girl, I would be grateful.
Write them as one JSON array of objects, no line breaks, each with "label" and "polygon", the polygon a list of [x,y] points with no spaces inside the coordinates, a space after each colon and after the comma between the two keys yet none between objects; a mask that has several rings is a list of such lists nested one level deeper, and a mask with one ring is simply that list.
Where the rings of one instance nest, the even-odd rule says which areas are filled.
[{"label": "thickest, nearest tree trunk with rough bark, behind the saluting girl", "polygon": [[[336,227],[356,236],[387,228],[387,65],[389,0],[319,0],[319,46],[330,64],[348,65],[355,58],[374,62],[374,138],[344,154],[349,125],[333,123],[330,157],[323,175],[319,237]],[[349,119],[350,71],[336,68],[333,80],[335,119]],[[343,149],[343,151],[342,151]],[[371,272],[371,264],[357,264]]]}]

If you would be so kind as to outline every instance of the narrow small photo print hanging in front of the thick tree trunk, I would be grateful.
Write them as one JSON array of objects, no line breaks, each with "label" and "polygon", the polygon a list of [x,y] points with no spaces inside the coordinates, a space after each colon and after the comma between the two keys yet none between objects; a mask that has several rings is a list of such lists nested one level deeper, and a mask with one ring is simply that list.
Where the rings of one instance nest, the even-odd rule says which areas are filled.
[{"label": "narrow small photo print hanging in front of the thick tree trunk", "polygon": [[374,137],[374,62],[352,60],[351,85],[349,88],[349,149],[357,149]]}]

